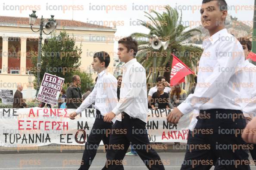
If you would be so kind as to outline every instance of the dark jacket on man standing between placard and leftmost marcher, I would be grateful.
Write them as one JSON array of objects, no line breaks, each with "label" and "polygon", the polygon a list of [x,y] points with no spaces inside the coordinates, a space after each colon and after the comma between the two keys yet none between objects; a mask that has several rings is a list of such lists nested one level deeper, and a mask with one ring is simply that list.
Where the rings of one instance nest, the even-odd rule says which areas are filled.
[{"label": "dark jacket on man standing between placard and leftmost marcher", "polygon": [[77,109],[83,102],[81,89],[73,84],[69,86],[66,92],[66,103],[68,109]]}]

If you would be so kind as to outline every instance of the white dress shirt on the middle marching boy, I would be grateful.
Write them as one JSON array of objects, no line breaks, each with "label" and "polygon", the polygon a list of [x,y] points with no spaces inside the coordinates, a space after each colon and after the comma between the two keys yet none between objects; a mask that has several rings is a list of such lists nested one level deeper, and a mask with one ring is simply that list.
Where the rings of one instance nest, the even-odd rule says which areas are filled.
[{"label": "white dress shirt on the middle marching boy", "polygon": [[[147,123],[147,83],[146,71],[136,58],[123,66],[123,79],[120,88],[120,100],[112,110],[116,115],[126,112],[133,118]],[[117,119],[118,120],[118,119]]]}]

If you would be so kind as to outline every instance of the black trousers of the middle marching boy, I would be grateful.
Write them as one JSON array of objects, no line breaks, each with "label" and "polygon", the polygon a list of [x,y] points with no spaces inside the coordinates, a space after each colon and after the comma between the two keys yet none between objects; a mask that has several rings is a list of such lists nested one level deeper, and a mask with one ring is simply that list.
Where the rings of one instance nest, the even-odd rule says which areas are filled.
[{"label": "black trousers of the middle marching boy", "polygon": [[[122,112],[122,121],[116,121],[112,130],[109,140],[112,147],[106,154],[107,161],[102,170],[123,170],[123,158],[130,143],[149,170],[165,169],[159,155],[150,147],[144,121]],[[129,165],[136,166],[136,162]]]}]

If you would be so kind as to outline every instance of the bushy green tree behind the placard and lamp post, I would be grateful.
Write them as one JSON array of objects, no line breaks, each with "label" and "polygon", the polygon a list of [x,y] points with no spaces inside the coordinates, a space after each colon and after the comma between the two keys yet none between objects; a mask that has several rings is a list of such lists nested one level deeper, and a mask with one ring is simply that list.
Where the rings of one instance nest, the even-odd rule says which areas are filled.
[{"label": "bushy green tree behind the placard and lamp post", "polygon": [[[78,48],[78,46],[75,45],[75,38],[70,37],[65,30],[61,31],[59,35],[53,33],[52,37],[42,46],[41,53],[40,80],[43,79],[44,73],[50,73],[65,78],[66,85],[63,86],[65,88],[69,86],[70,82],[72,82],[72,76],[74,74],[79,74],[81,76],[82,84],[92,82],[92,79],[90,78],[91,76],[89,74],[82,73],[79,69],[82,53],[81,44]],[[33,56],[31,60],[34,67],[36,67],[37,56]],[[32,73],[35,76],[34,87],[36,88],[37,70],[32,70]],[[82,88],[85,87],[82,85]]]}]

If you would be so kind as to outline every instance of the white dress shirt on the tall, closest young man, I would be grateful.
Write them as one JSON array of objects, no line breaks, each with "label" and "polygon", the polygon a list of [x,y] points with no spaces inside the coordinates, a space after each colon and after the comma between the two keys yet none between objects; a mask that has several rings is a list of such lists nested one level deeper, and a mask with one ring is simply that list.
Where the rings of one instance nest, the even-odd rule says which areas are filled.
[{"label": "white dress shirt on the tall, closest young man", "polygon": [[235,69],[245,60],[241,44],[222,29],[204,40],[203,48],[199,63],[199,68],[203,69],[198,72],[194,94],[190,94],[178,109],[183,114],[193,109],[242,110],[241,104],[235,102],[240,96],[240,87],[234,85],[240,84]]}]

